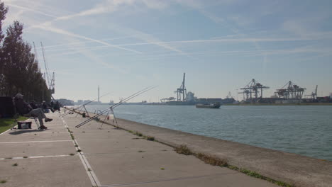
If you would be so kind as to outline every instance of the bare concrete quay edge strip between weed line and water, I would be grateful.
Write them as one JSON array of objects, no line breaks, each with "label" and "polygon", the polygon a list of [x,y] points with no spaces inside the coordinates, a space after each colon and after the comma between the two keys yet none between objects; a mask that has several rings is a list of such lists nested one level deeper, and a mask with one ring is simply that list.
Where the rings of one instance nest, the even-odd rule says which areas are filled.
[{"label": "bare concrete quay edge strip between weed line and water", "polygon": [[[104,118],[101,118],[104,119]],[[172,147],[186,145],[195,154],[214,155],[237,168],[254,171],[275,181],[294,186],[329,186],[332,183],[332,162],[275,151],[153,125],[118,119],[118,126],[131,132],[154,137]]]}]

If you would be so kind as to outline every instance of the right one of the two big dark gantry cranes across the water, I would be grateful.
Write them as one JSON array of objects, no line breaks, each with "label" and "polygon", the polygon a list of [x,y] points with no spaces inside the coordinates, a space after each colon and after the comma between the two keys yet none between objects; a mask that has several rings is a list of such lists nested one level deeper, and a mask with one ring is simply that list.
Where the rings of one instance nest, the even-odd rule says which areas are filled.
[{"label": "right one of the two big dark gantry cranes across the water", "polygon": [[294,84],[294,82],[289,81],[282,86],[281,89],[277,89],[275,94],[277,94],[279,98],[284,99],[301,99],[305,90],[305,88],[301,88],[297,86],[297,84]]}]

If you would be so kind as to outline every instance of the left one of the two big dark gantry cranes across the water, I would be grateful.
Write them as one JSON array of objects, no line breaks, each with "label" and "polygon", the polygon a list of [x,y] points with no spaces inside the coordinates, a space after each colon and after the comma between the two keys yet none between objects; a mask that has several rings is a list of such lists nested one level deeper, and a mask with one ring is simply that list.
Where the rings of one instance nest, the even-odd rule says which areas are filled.
[{"label": "left one of the two big dark gantry cranes across the water", "polygon": [[268,86],[263,86],[255,79],[252,79],[244,88],[242,92],[238,94],[243,94],[243,100],[253,100],[258,101],[258,98],[262,98],[263,89],[270,89]]}]

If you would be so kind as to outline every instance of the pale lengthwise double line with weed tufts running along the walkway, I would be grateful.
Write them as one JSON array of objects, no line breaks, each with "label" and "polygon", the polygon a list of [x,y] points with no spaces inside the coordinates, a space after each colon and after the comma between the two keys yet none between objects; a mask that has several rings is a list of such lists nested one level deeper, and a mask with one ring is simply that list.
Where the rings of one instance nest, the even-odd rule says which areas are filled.
[{"label": "pale lengthwise double line with weed tufts running along the walkway", "polygon": [[89,162],[87,161],[87,158],[85,157],[82,150],[79,148],[79,145],[78,145],[77,141],[74,139],[74,136],[72,135],[72,132],[68,128],[67,123],[65,122],[65,120],[62,117],[60,117],[60,118],[62,120],[63,125],[65,125],[65,128],[67,128],[68,133],[70,134],[70,137],[72,137],[72,143],[75,146],[75,149],[77,151],[77,154],[79,155],[79,159],[81,159],[81,162],[84,166],[85,171],[87,171],[87,175],[89,176],[89,179],[92,183],[92,186],[101,186],[101,183],[99,182],[98,178],[96,177],[96,174],[94,174],[94,171],[92,170]]}]

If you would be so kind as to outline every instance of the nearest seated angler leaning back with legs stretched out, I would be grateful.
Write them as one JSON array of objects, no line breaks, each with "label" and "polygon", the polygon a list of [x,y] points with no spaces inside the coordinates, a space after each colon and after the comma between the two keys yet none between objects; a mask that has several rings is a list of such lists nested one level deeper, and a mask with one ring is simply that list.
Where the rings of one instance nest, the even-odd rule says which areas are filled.
[{"label": "nearest seated angler leaning back with legs stretched out", "polygon": [[47,118],[41,108],[33,109],[28,103],[23,101],[22,94],[16,94],[13,100],[15,103],[16,111],[18,113],[26,117],[31,117],[31,116],[38,117],[40,123],[40,129],[47,129],[47,127],[44,126],[43,118],[45,119],[45,122],[52,121],[52,119]]}]

